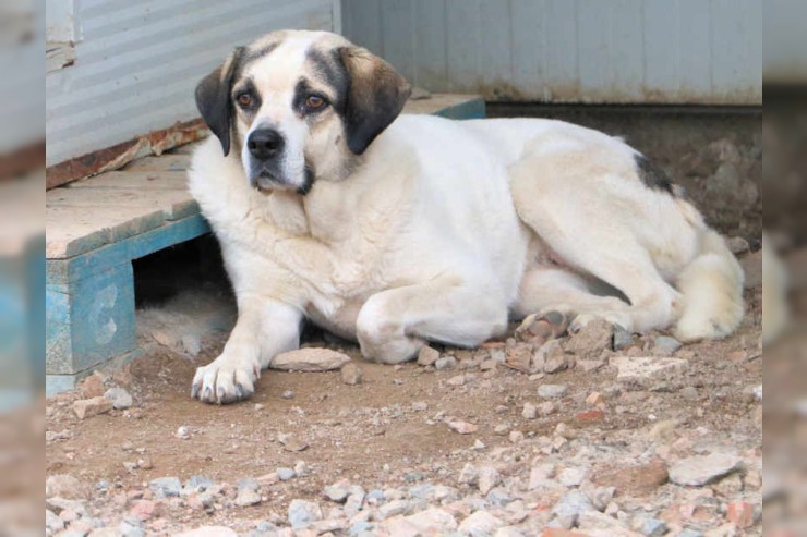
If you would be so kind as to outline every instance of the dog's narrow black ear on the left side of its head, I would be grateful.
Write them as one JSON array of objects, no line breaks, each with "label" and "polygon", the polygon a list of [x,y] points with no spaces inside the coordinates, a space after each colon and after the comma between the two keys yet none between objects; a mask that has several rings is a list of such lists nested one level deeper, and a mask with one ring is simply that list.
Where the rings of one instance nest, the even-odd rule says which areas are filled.
[{"label": "dog's narrow black ear on the left side of its head", "polygon": [[221,142],[225,156],[230,152],[230,122],[232,121],[230,90],[243,50],[243,47],[236,48],[221,65],[202,78],[196,86],[196,108],[213,134]]}]

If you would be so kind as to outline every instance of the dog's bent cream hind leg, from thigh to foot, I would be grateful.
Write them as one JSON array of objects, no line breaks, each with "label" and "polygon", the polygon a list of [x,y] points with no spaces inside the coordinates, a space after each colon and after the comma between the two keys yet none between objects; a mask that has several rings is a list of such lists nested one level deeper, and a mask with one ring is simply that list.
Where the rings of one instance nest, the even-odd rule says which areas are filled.
[{"label": "dog's bent cream hind leg, from thigh to foot", "polygon": [[[667,327],[677,318],[680,295],[664,281],[631,228],[630,206],[624,207],[612,186],[597,176],[606,172],[585,156],[570,157],[564,154],[555,162],[552,155],[528,157],[510,167],[516,210],[566,265],[621,291],[630,304],[586,293],[567,279],[567,285],[549,291],[557,303],[543,301],[543,309],[576,309],[570,312],[577,315],[573,330],[598,318],[631,331]],[[623,213],[613,213],[615,209]],[[528,274],[522,288],[549,290],[552,278],[557,274]],[[538,291],[525,296],[530,294],[540,298]]]}]

